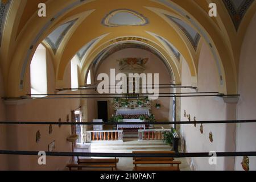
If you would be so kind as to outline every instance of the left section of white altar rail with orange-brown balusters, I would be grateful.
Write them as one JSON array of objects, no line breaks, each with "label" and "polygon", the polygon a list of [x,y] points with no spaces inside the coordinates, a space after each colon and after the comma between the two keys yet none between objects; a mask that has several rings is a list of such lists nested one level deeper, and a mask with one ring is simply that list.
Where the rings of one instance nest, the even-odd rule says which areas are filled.
[{"label": "left section of white altar rail with orange-brown balusters", "polygon": [[123,142],[123,130],[86,131],[87,142]]}]

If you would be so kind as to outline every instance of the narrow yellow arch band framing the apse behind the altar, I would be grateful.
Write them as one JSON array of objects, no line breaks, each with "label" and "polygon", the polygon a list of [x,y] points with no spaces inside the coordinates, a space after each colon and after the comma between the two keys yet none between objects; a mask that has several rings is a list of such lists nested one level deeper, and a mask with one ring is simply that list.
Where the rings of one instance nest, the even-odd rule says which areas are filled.
[{"label": "narrow yellow arch band framing the apse behind the altar", "polygon": [[160,47],[158,44],[151,42],[150,40],[138,38],[138,37],[126,36],[125,38],[116,38],[116,39],[110,40],[109,42],[106,42],[105,44],[101,45],[96,50],[94,50],[89,55],[89,57],[86,58],[86,61],[85,61],[84,65],[82,65],[82,69],[81,69],[80,85],[84,85],[86,73],[88,72],[88,68],[90,68],[90,65],[93,63],[93,60],[96,59],[96,57],[98,55],[100,55],[100,53],[103,52],[105,49],[108,49],[109,47],[112,47],[112,46],[115,46],[118,44],[122,44],[122,43],[143,44],[145,46],[148,46],[148,47],[154,49],[161,56],[163,56],[164,60],[166,60],[165,64],[168,65],[167,68],[170,68],[170,70],[172,72],[172,76],[175,80],[175,83],[181,84],[179,65],[177,63],[175,63],[174,60],[171,59],[170,54],[165,49]]}]

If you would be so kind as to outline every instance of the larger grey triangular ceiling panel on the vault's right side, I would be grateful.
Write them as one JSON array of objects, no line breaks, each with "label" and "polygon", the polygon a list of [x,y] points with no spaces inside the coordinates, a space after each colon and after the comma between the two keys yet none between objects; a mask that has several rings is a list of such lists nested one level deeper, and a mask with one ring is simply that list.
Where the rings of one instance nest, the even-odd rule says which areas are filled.
[{"label": "larger grey triangular ceiling panel on the vault's right side", "polygon": [[189,24],[185,23],[183,20],[181,20],[179,18],[175,18],[170,15],[166,15],[166,17],[168,19],[170,19],[172,22],[174,22],[175,24],[177,24],[177,26],[181,29],[181,31],[183,31],[184,34],[187,36],[187,38],[188,38],[189,42],[191,42],[193,48],[196,50],[199,40],[201,38],[200,34],[197,33],[197,31],[194,28],[189,26]]}]

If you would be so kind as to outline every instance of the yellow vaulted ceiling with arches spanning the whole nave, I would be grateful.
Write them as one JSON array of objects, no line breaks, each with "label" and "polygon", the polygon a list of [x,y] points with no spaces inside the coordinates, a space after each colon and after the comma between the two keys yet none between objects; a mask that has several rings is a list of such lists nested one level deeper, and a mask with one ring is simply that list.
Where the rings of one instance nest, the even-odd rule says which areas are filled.
[{"label": "yellow vaulted ceiling with arches spanning the whole nave", "polygon": [[[224,18],[224,15],[229,14],[226,12],[224,3],[216,0],[213,0],[213,2],[216,2],[217,5],[220,6],[220,17],[217,18],[210,18],[208,16],[208,0],[131,0],[118,1],[118,3],[117,0],[113,0],[108,3],[108,6],[102,6],[102,3],[105,2],[104,0],[42,0],[40,2],[45,2],[47,4],[47,17],[42,19],[39,19],[37,16],[38,7],[36,5],[39,0],[33,0],[33,3],[30,3],[30,0],[26,2],[19,1],[19,3],[17,3],[18,1],[11,1],[13,6],[11,6],[10,9],[13,12],[16,11],[16,14],[14,14],[13,17],[9,17],[9,19],[11,20],[11,18],[13,18],[13,23],[15,22],[15,25],[7,23],[7,26],[5,26],[12,26],[13,30],[9,32],[11,39],[9,39],[9,46],[5,47],[6,54],[3,57],[3,60],[1,60],[1,64],[5,64],[5,68],[7,68],[3,73],[5,82],[11,83],[7,84],[8,89],[6,90],[6,93],[9,96],[24,94],[24,73],[26,72],[37,45],[53,30],[61,26],[65,20],[71,18],[75,14],[84,13],[85,11],[92,11],[92,13],[90,13],[84,20],[82,20],[82,17],[79,18],[81,23],[75,23],[73,25],[77,25],[77,27],[74,27],[73,34],[70,35],[70,37],[65,36],[64,39],[66,40],[62,40],[62,43],[59,45],[56,52],[56,81],[61,81],[65,67],[72,59],[72,56],[75,55],[82,46],[92,41],[93,38],[97,38],[104,34],[109,35],[100,40],[94,48],[90,49],[88,56],[105,42],[127,35],[139,36],[152,40],[152,42],[164,49],[164,52],[168,52],[170,56],[173,56],[171,53],[172,51],[166,46],[164,40],[158,40],[154,36],[148,34],[148,32],[154,32],[154,34],[159,35],[170,42],[187,61],[189,68],[191,69],[191,75],[196,76],[196,51],[198,48],[195,49],[193,46],[196,46],[195,43],[197,39],[192,40],[194,43],[191,42],[191,39],[186,35],[186,32],[180,30],[182,29],[180,28],[180,25],[185,22],[195,28],[205,42],[209,44],[219,72],[220,92],[236,93],[237,68],[239,63],[238,57],[240,57],[239,52],[243,35],[245,34],[246,25],[249,24],[250,18],[255,13],[256,8],[255,1],[248,1],[252,1],[252,3],[250,3],[250,6],[246,7],[247,11],[243,14],[237,32],[234,27],[229,26],[232,19]],[[124,13],[124,7],[127,13]],[[147,9],[147,7],[168,11],[174,18],[169,17],[169,19],[163,19],[163,17],[161,18],[160,16],[157,16],[154,12]],[[108,19],[108,16],[106,15],[111,12],[114,12],[114,14],[119,17]],[[104,17],[106,18],[105,23],[108,24],[108,26],[102,24],[102,19],[104,19]],[[122,23],[120,25],[120,17],[128,17],[129,20],[134,20],[137,23],[129,24],[128,20],[128,22],[126,22],[127,25]],[[179,18],[179,20],[175,18]],[[117,24],[119,25],[116,26]],[[86,27],[86,29],[82,29],[81,27]],[[234,28],[234,31],[230,31],[232,32],[230,37],[224,36],[223,30],[229,32],[230,27]],[[81,29],[79,30],[79,28]],[[189,29],[187,29],[187,32],[189,32],[188,30]],[[84,34],[85,36],[88,36],[88,39],[83,39],[80,42],[79,38],[75,38],[74,36],[76,32],[80,33],[80,38],[81,35]],[[5,31],[5,35],[7,34],[8,33]],[[236,39],[235,36],[239,37],[237,42],[232,41],[232,39]],[[191,37],[196,38],[196,36]],[[5,42],[2,43],[6,45]],[[193,47],[193,49],[191,49],[191,47]],[[1,52],[3,52],[3,48],[1,48]],[[15,52],[15,54],[13,52]],[[18,89],[17,85],[19,85]]]}]

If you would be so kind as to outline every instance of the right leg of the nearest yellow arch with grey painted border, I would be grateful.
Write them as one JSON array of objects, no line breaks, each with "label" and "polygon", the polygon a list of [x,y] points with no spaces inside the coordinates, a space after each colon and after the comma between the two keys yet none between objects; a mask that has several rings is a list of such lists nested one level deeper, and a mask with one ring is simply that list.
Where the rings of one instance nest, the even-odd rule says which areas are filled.
[{"label": "right leg of the nearest yellow arch with grey painted border", "polygon": [[[232,53],[227,49],[226,44],[222,42],[222,32],[220,28],[210,20],[208,14],[193,1],[166,1],[151,0],[162,3],[171,10],[175,10],[184,19],[187,19],[200,32],[201,36],[207,42],[216,66],[218,68],[220,88],[222,93],[237,93],[237,70]],[[189,8],[188,8],[189,7]]]}]

